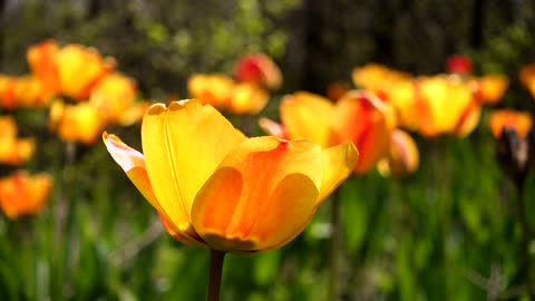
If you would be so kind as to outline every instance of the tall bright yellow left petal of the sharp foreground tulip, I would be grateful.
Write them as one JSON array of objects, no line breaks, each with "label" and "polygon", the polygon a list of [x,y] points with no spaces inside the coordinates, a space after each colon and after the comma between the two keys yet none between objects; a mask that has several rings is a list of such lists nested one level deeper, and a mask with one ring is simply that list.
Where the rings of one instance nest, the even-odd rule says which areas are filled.
[{"label": "tall bright yellow left petal of the sharp foreground tulip", "polygon": [[196,239],[191,207],[201,186],[245,136],[212,106],[197,100],[153,105],[142,125],[142,143],[154,194],[168,221]]}]

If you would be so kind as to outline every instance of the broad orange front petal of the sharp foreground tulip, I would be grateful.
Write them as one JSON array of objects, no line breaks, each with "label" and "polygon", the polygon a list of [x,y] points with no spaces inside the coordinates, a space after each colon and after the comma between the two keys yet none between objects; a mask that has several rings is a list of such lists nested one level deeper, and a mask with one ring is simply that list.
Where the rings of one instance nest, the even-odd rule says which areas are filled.
[{"label": "broad orange front petal of the sharp foreground tulip", "polygon": [[231,152],[202,187],[192,208],[193,225],[217,250],[282,246],[315,212],[322,169],[317,144],[251,138]]}]

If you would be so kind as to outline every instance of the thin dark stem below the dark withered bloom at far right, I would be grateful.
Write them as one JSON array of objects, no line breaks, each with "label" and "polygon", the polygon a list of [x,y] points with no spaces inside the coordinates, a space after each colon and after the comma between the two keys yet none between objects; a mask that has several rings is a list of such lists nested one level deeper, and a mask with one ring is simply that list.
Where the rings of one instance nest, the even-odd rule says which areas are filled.
[{"label": "thin dark stem below the dark withered bloom at far right", "polygon": [[522,259],[524,263],[521,266],[524,266],[524,276],[526,278],[527,295],[528,300],[535,300],[535,287],[533,285],[533,275],[532,275],[532,259],[529,255],[529,240],[531,240],[531,229],[526,219],[525,210],[525,200],[524,200],[524,183],[525,178],[518,178],[516,181],[516,193],[518,197],[517,202],[517,214],[518,222],[521,223],[522,229]]}]

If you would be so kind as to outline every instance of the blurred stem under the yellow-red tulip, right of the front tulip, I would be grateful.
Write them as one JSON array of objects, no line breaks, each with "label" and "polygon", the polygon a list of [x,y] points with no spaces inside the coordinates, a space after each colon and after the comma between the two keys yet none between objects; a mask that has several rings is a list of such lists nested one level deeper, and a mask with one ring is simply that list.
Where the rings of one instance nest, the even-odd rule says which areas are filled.
[{"label": "blurred stem under the yellow-red tulip, right of the front tulip", "polygon": [[340,275],[340,197],[338,190],[331,200],[331,250],[330,250],[329,300],[337,301],[339,297]]}]

